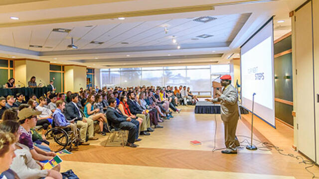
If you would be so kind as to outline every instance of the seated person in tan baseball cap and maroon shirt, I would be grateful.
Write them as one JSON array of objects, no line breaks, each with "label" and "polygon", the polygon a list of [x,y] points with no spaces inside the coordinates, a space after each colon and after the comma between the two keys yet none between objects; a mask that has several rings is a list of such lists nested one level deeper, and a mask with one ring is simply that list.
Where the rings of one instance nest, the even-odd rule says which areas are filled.
[{"label": "seated person in tan baseball cap and maroon shirt", "polygon": [[55,156],[54,152],[46,152],[36,146],[33,146],[32,143],[32,134],[31,128],[36,125],[37,115],[40,115],[40,111],[36,111],[32,108],[23,108],[18,113],[18,122],[20,123],[19,133],[19,143],[27,146],[30,150],[32,158],[37,161],[46,161],[50,160]]}]

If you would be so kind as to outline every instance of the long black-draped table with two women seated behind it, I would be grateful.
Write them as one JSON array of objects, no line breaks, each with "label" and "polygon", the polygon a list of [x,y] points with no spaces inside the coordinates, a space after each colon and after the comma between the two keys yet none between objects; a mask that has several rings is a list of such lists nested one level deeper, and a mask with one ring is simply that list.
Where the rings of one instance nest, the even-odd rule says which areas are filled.
[{"label": "long black-draped table with two women seated behind it", "polygon": [[28,99],[31,94],[35,94],[37,98],[46,94],[47,91],[51,91],[51,87],[41,87],[41,88],[13,88],[13,89],[0,89],[0,96],[15,96],[16,93],[21,93],[25,96],[25,99]]}]

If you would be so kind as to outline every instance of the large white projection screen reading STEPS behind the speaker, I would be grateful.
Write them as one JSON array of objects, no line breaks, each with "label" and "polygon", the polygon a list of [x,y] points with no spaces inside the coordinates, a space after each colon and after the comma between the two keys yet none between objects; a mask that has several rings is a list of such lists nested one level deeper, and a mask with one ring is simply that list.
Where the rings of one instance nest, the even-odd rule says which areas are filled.
[{"label": "large white projection screen reading STEPS behind the speaker", "polygon": [[242,105],[275,126],[274,40],[270,19],[241,47]]}]

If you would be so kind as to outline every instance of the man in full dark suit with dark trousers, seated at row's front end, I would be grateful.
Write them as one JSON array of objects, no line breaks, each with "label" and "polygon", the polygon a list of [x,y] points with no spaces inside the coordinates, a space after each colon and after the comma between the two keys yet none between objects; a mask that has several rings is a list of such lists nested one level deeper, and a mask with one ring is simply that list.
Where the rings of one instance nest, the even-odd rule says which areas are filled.
[{"label": "man in full dark suit with dark trousers, seated at row's front end", "polygon": [[[117,103],[115,98],[109,99],[109,107],[106,111],[107,118],[112,122],[114,127],[129,131],[128,142],[126,146],[137,147],[134,142],[139,128],[136,124],[131,122],[132,118],[124,116],[121,111],[116,108],[116,105]],[[139,123],[138,121],[136,122]]]}]

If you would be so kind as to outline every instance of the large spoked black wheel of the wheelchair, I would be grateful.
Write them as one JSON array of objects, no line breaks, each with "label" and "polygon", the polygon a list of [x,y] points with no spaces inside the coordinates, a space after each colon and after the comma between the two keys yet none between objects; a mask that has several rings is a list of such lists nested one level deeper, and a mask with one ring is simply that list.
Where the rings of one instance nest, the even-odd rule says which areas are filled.
[{"label": "large spoked black wheel of the wheelchair", "polygon": [[69,136],[63,129],[52,128],[45,133],[45,137],[52,145],[53,142],[56,143],[56,145],[50,145],[54,152],[61,151],[69,145]]}]

